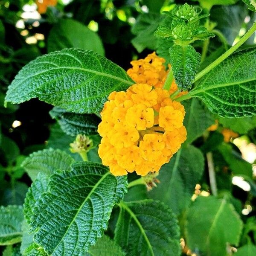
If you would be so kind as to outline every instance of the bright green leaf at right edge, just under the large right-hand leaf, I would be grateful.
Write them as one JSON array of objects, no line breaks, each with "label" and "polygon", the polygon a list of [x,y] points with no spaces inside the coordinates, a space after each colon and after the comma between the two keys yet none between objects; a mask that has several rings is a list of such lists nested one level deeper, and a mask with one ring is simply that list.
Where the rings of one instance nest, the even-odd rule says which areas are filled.
[{"label": "bright green leaf at right edge, just under the large right-hand leaf", "polygon": [[256,127],[256,116],[242,118],[218,118],[219,123],[225,128],[230,128],[239,134],[246,134],[248,131]]}]

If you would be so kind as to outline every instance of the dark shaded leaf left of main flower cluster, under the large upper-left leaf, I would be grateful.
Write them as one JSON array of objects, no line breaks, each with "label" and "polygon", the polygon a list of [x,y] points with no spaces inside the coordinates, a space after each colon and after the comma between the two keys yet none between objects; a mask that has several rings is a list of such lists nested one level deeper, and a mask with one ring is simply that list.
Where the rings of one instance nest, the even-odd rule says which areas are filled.
[{"label": "dark shaded leaf left of main flower cluster, under the large upper-left leaf", "polygon": [[77,134],[95,135],[101,119],[93,114],[76,114],[55,107],[50,112],[52,118],[58,120],[62,131],[71,136]]}]

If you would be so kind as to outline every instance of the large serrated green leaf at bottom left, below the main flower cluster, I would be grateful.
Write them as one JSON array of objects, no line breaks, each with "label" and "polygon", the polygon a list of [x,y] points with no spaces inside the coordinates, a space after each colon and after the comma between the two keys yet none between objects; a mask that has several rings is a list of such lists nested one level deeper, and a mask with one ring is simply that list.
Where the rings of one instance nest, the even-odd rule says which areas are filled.
[{"label": "large serrated green leaf at bottom left, below the main flower cluster", "polygon": [[29,218],[35,243],[52,256],[84,255],[108,227],[126,186],[126,176],[114,177],[92,162],[74,163],[71,171],[52,175]]}]

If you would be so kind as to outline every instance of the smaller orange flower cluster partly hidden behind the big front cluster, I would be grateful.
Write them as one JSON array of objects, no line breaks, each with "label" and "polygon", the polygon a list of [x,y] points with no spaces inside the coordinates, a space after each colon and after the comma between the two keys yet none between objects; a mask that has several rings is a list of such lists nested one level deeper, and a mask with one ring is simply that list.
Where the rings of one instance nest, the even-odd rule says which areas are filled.
[{"label": "smaller orange flower cluster partly hidden behind the big front cluster", "polygon": [[[148,54],[145,59],[139,59],[137,61],[131,61],[132,68],[127,70],[127,74],[137,84],[149,84],[155,88],[163,88],[163,84],[166,80],[169,70],[166,70],[164,58],[160,58],[155,52]],[[169,66],[170,69],[170,66]],[[169,93],[175,93],[178,90],[175,81],[172,81]],[[179,92],[176,97],[187,94],[188,92]]]}]

